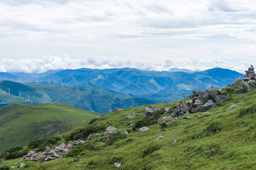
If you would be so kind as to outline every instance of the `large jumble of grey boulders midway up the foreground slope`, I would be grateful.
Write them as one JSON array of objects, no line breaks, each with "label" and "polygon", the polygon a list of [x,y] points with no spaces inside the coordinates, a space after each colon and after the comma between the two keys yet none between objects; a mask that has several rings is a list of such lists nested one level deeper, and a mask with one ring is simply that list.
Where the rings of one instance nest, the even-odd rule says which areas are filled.
[{"label": "large jumble of grey boulders midway up the foreground slope", "polygon": [[[190,113],[196,113],[197,111],[204,112],[217,103],[225,102],[230,96],[220,95],[220,88],[209,87],[208,89],[200,92],[198,90],[194,91],[193,94],[189,96],[188,101],[179,101],[176,103],[177,108],[166,107],[165,111],[171,111],[172,113],[168,117],[163,117],[158,120],[158,123],[165,121],[173,121],[175,119],[190,119],[187,115]],[[153,112],[159,109],[145,108],[143,117],[151,116]]]}]

